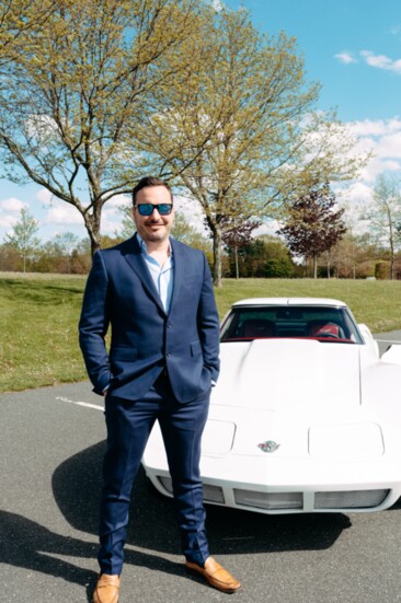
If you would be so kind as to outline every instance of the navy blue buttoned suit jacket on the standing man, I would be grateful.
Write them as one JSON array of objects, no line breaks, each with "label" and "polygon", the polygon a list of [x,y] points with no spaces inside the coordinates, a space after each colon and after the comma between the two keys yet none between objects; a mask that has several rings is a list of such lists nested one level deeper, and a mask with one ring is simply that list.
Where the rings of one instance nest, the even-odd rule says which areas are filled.
[{"label": "navy blue buttoned suit jacket on the standing man", "polygon": [[[219,318],[203,252],[171,239],[174,281],[165,314],[136,235],[96,252],[79,323],[93,391],[140,399],[167,368],[181,403],[217,381]],[[107,352],[105,336],[111,325]]]}]

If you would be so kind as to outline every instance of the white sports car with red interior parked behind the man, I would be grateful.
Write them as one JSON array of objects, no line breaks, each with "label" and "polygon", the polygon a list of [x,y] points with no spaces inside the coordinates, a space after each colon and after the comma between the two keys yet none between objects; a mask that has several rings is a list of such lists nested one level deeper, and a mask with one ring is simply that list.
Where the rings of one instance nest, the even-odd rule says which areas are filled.
[{"label": "white sports car with red interior parked behind the man", "polygon": [[[158,426],[144,455],[171,496]],[[401,496],[401,346],[379,358],[330,299],[234,303],[203,438],[205,502],[260,513],[376,511]]]}]

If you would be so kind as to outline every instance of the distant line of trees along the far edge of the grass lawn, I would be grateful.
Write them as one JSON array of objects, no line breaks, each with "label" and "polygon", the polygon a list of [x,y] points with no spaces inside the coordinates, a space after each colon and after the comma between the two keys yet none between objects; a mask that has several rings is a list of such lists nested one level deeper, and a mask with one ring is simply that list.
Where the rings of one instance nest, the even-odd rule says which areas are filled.
[{"label": "distant line of trees along the far edge of the grass lawn", "polygon": [[[129,211],[129,207],[123,211],[118,234],[102,236],[102,247],[115,245],[131,236],[134,224]],[[20,220],[0,244],[0,271],[82,275],[89,271],[92,259],[88,237],[79,239],[71,232],[64,232],[42,243],[37,236],[38,227],[38,222],[23,209]],[[283,236],[254,236],[254,228],[251,227],[255,224],[245,227],[232,227],[231,236],[226,239],[221,263],[225,278],[401,279],[399,246],[396,245],[394,251],[386,244],[386,239],[375,239],[371,233],[355,235],[348,228],[325,251],[313,256],[311,248],[302,257],[291,253]],[[173,235],[204,251],[213,265],[213,244],[207,232],[200,233],[190,225],[180,211],[175,214]]]}]

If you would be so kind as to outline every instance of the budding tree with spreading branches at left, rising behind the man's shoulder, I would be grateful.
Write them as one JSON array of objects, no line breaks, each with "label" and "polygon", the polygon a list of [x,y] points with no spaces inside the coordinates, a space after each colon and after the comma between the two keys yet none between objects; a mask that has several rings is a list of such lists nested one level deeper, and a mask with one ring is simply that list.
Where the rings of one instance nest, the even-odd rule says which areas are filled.
[{"label": "budding tree with spreading branches at left, rising behind the man's shoulder", "polygon": [[35,14],[50,3],[25,4],[15,2],[14,18],[25,26],[2,67],[2,176],[34,181],[76,207],[93,253],[104,204],[130,192],[148,166],[127,125],[135,131],[152,108],[152,89],[174,84],[181,66],[167,68],[164,58],[195,28],[199,4],[55,1],[39,22]]}]

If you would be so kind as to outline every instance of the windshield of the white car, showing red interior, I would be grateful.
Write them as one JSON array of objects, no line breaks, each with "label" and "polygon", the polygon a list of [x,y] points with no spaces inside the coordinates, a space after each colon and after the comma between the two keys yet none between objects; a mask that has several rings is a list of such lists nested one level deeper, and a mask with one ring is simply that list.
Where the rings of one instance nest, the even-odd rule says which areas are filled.
[{"label": "windshield of the white car, showing red interior", "polygon": [[224,343],[271,337],[364,343],[350,312],[343,306],[234,306],[221,326]]}]

